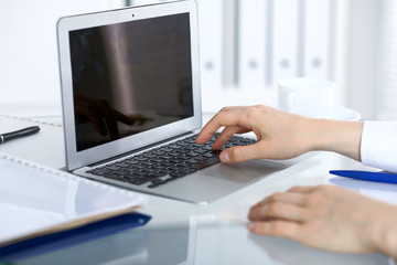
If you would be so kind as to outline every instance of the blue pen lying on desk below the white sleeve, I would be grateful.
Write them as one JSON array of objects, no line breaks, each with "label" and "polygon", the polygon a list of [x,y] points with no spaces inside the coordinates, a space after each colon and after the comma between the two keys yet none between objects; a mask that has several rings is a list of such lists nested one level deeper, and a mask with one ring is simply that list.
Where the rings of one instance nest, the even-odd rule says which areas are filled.
[{"label": "blue pen lying on desk below the white sleeve", "polygon": [[389,173],[384,171],[371,172],[358,170],[331,170],[330,173],[357,180],[397,184],[397,173]]}]

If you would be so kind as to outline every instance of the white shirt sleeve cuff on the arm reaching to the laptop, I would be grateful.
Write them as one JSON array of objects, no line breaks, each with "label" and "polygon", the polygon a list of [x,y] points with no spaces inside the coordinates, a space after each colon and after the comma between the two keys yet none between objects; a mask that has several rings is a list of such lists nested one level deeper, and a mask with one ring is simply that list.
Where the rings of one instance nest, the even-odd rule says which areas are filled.
[{"label": "white shirt sleeve cuff on the arm reaching to the laptop", "polygon": [[364,121],[361,159],[365,166],[397,172],[397,121]]}]

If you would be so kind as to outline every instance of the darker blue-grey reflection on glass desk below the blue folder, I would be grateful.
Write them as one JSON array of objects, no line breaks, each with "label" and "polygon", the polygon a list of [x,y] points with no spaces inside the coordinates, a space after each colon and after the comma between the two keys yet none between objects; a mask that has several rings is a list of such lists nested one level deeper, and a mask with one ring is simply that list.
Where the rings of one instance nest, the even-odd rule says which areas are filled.
[{"label": "darker blue-grey reflection on glass desk below the blue folder", "polygon": [[194,231],[189,221],[167,227],[143,226],[35,256],[15,257],[13,262],[21,265],[192,264]]}]

